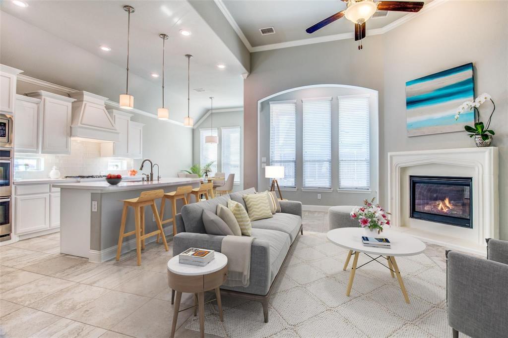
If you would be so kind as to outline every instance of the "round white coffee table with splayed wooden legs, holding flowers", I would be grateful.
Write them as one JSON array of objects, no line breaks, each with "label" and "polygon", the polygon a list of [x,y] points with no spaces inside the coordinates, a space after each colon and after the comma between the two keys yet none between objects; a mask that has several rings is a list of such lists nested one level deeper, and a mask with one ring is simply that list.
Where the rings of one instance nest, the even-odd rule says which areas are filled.
[{"label": "round white coffee table with splayed wooden legs, holding flowers", "polygon": [[[406,303],[409,303],[409,297],[407,296],[406,288],[404,287],[404,282],[400,276],[399,267],[397,266],[395,257],[418,255],[425,250],[425,244],[412,236],[388,230],[380,234],[379,237],[387,238],[391,243],[391,248],[388,249],[366,247],[362,243],[362,236],[365,236],[363,228],[340,228],[330,230],[327,233],[327,238],[330,242],[338,245],[339,247],[349,249],[346,261],[344,263],[344,271],[349,264],[351,256],[353,254],[355,255],[355,258],[353,259],[353,266],[351,268],[350,280],[349,283],[347,283],[346,296],[349,296],[351,293],[351,287],[353,286],[353,280],[355,279],[356,269],[360,268],[360,266],[357,267],[358,256],[360,252],[363,252],[371,258],[371,260],[367,263],[375,260],[388,268],[392,277],[395,277],[395,273],[399,281],[399,286],[402,290],[402,294],[404,295],[404,299]],[[377,257],[372,257],[370,255],[377,255]],[[386,259],[388,261],[388,266],[378,261],[379,258]]]}]

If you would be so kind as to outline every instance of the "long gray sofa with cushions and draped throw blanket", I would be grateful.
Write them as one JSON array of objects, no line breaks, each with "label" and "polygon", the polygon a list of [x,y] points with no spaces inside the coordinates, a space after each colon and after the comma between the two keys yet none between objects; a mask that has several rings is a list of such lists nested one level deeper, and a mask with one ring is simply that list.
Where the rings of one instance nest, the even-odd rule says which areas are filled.
[{"label": "long gray sofa with cushions and draped throw blanket", "polygon": [[[177,234],[173,239],[173,256],[192,247],[220,252],[224,236],[206,233],[202,220],[203,210],[215,213],[217,205],[227,205],[228,199],[245,207],[243,195],[252,193],[255,193],[254,188],[183,206],[180,214],[176,215]],[[221,286],[222,294],[260,301],[265,322],[268,322],[271,287],[298,233],[303,234],[301,202],[280,201],[280,209],[281,212],[272,218],[251,222],[252,236],[256,239],[252,242],[250,252],[249,286]]]}]

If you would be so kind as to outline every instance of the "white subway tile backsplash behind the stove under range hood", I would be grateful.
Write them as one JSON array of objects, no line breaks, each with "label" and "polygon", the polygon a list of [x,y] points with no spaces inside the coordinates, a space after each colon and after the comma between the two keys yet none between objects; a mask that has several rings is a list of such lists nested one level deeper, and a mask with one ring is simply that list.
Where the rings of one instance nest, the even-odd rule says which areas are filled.
[{"label": "white subway tile backsplash behind the stove under range hood", "polygon": [[39,157],[44,160],[44,167],[41,171],[15,171],[14,179],[45,179],[49,172],[56,166],[61,177],[74,175],[106,175],[108,173],[125,175],[127,170],[133,168],[132,159],[126,159],[127,170],[108,170],[107,157],[101,157],[101,144],[97,142],[71,141],[70,155],[48,155],[48,154],[23,154],[15,153],[17,157]]}]

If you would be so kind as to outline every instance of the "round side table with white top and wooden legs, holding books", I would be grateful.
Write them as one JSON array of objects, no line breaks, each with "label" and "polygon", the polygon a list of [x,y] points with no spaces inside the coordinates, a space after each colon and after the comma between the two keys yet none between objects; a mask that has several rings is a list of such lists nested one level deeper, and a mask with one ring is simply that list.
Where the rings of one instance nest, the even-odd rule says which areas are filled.
[{"label": "round side table with white top and wooden legs, holding books", "polygon": [[[178,256],[175,256],[168,261],[168,284],[171,289],[176,291],[175,308],[173,309],[173,325],[171,326],[171,338],[175,336],[178,313],[194,308],[194,316],[196,316],[196,307],[199,308],[199,328],[201,337],[204,337],[205,291],[215,290],[215,296],[217,297],[217,305],[219,308],[219,318],[220,321],[224,321],[219,287],[226,281],[227,276],[228,257],[220,252],[215,252],[214,259],[205,266],[180,264],[178,262]],[[194,293],[193,307],[180,310],[182,292]]]}]

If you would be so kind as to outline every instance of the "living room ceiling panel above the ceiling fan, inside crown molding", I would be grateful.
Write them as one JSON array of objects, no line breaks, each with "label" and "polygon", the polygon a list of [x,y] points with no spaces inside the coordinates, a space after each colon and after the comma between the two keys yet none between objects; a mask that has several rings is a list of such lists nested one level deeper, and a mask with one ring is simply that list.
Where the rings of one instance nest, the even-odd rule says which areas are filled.
[{"label": "living room ceiling panel above the ceiling fan, inside crown molding", "polygon": [[[312,34],[305,31],[313,24],[346,9],[346,3],[340,0],[215,1],[225,5],[252,47],[354,32],[354,24],[345,18],[332,22]],[[432,1],[424,2],[427,5]],[[367,35],[369,29],[383,28],[405,15],[414,14],[389,12],[386,18],[368,20]],[[262,36],[259,29],[265,27],[274,27],[276,33]]]}]

